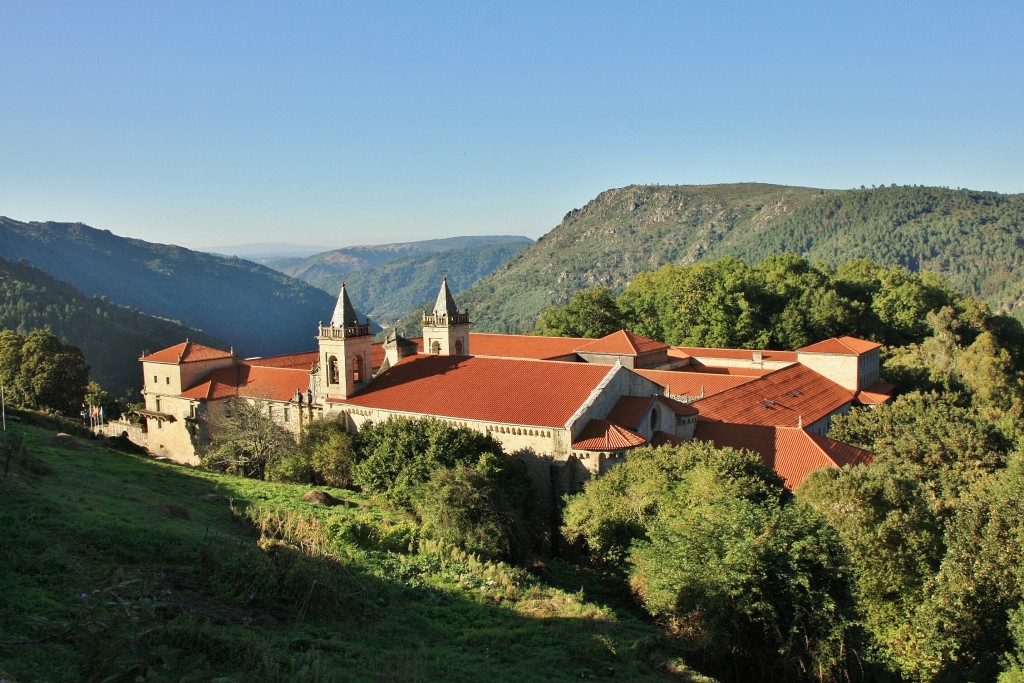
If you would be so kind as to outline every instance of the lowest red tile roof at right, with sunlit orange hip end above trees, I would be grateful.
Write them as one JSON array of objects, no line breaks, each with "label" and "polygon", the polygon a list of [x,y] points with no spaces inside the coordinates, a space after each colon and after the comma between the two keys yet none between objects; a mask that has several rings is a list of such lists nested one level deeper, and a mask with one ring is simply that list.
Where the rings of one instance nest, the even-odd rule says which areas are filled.
[{"label": "lowest red tile roof at right, with sunlit orange hip end above trees", "polygon": [[757,454],[785,480],[785,487],[791,490],[816,469],[859,465],[873,458],[868,451],[796,427],[700,422],[694,437],[720,449],[745,449]]}]

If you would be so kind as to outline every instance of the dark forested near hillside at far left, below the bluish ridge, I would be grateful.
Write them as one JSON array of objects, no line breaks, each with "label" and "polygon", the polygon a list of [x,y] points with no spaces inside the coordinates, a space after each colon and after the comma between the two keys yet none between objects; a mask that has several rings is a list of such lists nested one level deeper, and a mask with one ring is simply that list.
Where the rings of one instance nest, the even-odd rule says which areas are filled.
[{"label": "dark forested near hillside at far left, below the bluish ridge", "polygon": [[226,348],[199,330],[87,297],[28,263],[0,258],[0,330],[27,334],[46,327],[81,349],[91,379],[117,394],[141,385],[138,358],[144,351],[186,338]]}]

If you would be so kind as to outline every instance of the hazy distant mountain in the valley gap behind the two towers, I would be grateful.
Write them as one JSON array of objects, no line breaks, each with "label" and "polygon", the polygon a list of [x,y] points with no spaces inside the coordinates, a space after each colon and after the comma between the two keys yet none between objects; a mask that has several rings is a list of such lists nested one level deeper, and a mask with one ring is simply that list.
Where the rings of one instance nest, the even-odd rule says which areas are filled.
[{"label": "hazy distant mountain in the valley gap behind the two towers", "polygon": [[[349,273],[377,268],[401,259],[442,252],[472,251],[477,248],[493,247],[496,245],[528,245],[531,242],[529,238],[508,234],[470,236],[445,238],[442,240],[423,240],[421,242],[402,242],[389,245],[345,247],[344,249],[335,249],[308,258],[285,258],[265,262],[270,267],[276,268],[285,274],[298,278],[326,292],[337,293],[342,281]],[[468,264],[468,262],[475,261],[476,258],[467,255],[465,257],[455,257],[455,260],[466,261]],[[486,261],[486,258],[484,257],[484,261]],[[479,266],[469,264],[468,267],[470,271],[479,269]],[[455,273],[455,268],[450,268],[450,270],[453,274]],[[390,272],[396,271],[392,270]],[[385,275],[385,278],[393,276]],[[412,273],[403,278],[411,276]],[[460,275],[458,279],[464,282],[468,281],[466,276]]]}]

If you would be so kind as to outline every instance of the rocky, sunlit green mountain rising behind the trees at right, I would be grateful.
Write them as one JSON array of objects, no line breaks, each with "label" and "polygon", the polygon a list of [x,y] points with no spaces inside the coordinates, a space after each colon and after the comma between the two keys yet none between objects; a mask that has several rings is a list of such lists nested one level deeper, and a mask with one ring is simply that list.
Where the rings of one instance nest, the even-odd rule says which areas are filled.
[{"label": "rocky, sunlit green mountain rising behind the trees at right", "polygon": [[527,332],[580,290],[622,291],[635,274],[721,256],[794,252],[833,265],[858,256],[948,279],[1020,315],[1024,196],[937,187],[826,190],[741,183],[632,185],[573,209],[460,297],[475,329]]}]

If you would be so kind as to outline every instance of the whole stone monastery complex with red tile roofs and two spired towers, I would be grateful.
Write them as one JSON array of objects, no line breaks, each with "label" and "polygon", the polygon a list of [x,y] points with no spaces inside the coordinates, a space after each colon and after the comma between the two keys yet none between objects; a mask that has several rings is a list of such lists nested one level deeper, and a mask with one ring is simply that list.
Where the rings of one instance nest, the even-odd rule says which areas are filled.
[{"label": "whole stone monastery complex with red tile roofs and two spired towers", "polygon": [[470,332],[447,282],[423,336],[374,343],[342,285],[317,348],[237,358],[185,341],[140,360],[145,445],[198,464],[232,399],[264,401],[298,434],[330,419],[357,431],[432,417],[494,436],[546,501],[579,490],[641,445],[692,438],[753,451],[795,488],[819,467],[871,454],[826,435],[835,415],[890,399],[880,344],[828,339],[797,351],[672,347],[620,330],[601,339]]}]

